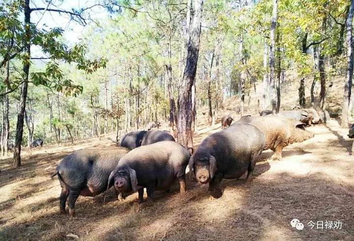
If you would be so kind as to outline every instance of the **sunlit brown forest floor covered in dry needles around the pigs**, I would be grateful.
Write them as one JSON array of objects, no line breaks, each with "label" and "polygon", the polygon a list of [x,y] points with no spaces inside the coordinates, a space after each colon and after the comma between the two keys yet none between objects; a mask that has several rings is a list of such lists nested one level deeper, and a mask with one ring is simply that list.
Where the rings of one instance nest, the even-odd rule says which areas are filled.
[{"label": "sunlit brown forest floor covered in dry needles around the pigs", "polygon": [[[342,93],[341,80],[334,85]],[[296,87],[284,88],[284,108],[297,103],[296,97],[290,98],[297,96]],[[336,111],[342,95],[336,99],[335,88],[333,92],[329,107]],[[248,113],[256,113],[257,98],[251,95]],[[237,104],[237,97],[227,101],[228,108]],[[199,114],[195,144],[220,129],[220,123],[208,126]],[[315,137],[286,147],[282,161],[270,160],[272,152],[265,151],[251,182],[223,180],[219,199],[210,199],[207,185],[189,179],[184,196],[176,182],[170,193],[157,191],[153,203],[142,205],[136,202],[137,193],[119,201],[111,189],[105,202],[105,193],[80,196],[75,218],[59,214],[59,181],[50,175],[72,151],[116,148],[112,142],[92,138],[25,151],[18,169],[11,168],[11,158],[2,159],[0,240],[66,240],[68,234],[80,240],[354,240],[353,140],[337,119],[308,130]],[[291,227],[293,218],[304,224],[303,230]],[[323,229],[317,229],[321,221]],[[340,221],[341,228],[329,229],[326,221]]]}]

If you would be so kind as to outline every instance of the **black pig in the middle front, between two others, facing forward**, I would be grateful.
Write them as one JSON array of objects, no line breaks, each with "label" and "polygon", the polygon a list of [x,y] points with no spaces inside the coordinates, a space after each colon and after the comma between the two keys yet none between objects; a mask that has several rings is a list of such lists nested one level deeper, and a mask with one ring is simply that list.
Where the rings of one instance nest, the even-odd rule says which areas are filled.
[{"label": "black pig in the middle front, between two others, facing forward", "polygon": [[185,192],[185,169],[190,153],[175,141],[160,141],[135,148],[126,154],[108,179],[108,188],[114,185],[118,192],[138,191],[143,202],[144,187],[148,200],[155,189],[169,189],[177,178],[180,193]]}]

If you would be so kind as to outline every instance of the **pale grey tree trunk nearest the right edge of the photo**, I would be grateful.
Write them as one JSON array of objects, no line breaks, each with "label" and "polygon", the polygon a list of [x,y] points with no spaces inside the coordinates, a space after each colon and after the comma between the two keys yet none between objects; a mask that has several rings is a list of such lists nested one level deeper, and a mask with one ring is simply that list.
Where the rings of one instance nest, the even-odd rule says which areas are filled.
[{"label": "pale grey tree trunk nearest the right edge of the photo", "polygon": [[344,85],[344,97],[343,97],[343,107],[342,107],[342,120],[341,126],[347,127],[348,125],[348,110],[349,103],[352,95],[352,78],[353,78],[353,65],[354,65],[354,53],[353,53],[353,35],[352,35],[352,24],[354,15],[354,0],[351,0],[351,5],[346,19],[346,42],[347,42],[347,78]]}]

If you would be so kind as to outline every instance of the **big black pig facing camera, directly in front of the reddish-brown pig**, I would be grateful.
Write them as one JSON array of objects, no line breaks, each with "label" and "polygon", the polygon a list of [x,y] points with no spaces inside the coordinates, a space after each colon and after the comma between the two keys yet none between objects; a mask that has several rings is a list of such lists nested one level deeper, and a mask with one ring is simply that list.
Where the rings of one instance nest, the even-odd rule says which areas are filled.
[{"label": "big black pig facing camera, directly in front of the reddish-brown pig", "polygon": [[209,183],[210,194],[219,198],[221,180],[240,178],[247,171],[252,174],[265,145],[265,136],[248,124],[232,125],[209,135],[189,161],[198,182]]}]

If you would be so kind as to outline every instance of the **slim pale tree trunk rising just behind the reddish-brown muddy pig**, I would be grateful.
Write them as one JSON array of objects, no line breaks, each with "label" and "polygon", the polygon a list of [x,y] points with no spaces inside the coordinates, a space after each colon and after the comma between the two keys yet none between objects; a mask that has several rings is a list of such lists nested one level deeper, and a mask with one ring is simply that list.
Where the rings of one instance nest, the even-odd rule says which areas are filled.
[{"label": "slim pale tree trunk rising just behind the reddish-brown muddy pig", "polygon": [[269,92],[271,95],[271,104],[273,113],[276,110],[276,81],[275,81],[275,28],[277,24],[277,3],[278,0],[273,0],[273,10],[272,10],[272,18],[270,25],[270,56],[269,56],[269,69],[270,69],[270,78],[269,78]]}]

